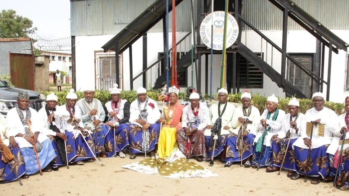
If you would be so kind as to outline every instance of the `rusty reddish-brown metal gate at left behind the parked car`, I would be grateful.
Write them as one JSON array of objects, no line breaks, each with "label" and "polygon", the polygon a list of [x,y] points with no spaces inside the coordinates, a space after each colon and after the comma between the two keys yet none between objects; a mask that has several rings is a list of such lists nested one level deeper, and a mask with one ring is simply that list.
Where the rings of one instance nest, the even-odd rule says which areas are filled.
[{"label": "rusty reddish-brown metal gate at left behind the parked car", "polygon": [[11,83],[20,89],[34,91],[34,56],[9,53]]}]

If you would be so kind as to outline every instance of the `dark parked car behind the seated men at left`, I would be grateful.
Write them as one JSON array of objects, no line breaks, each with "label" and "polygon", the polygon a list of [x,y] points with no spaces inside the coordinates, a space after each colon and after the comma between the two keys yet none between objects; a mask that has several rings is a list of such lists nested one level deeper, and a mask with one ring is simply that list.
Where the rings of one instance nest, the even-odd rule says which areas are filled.
[{"label": "dark parked car behind the seated men at left", "polygon": [[29,106],[36,111],[44,107],[46,97],[35,91],[10,87],[6,81],[0,81],[0,113],[6,117],[8,110],[17,106],[18,92],[25,91],[29,95]]}]

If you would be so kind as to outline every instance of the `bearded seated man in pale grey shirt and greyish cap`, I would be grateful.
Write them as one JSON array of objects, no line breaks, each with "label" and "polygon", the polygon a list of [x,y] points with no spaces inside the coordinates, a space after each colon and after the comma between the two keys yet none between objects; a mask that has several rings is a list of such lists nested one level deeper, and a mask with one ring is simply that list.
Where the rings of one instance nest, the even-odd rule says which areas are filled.
[{"label": "bearded seated man in pale grey shirt and greyish cap", "polygon": [[84,91],[84,98],[78,100],[76,104],[79,107],[84,129],[93,132],[96,153],[100,153],[102,157],[106,157],[102,151],[104,150],[104,138],[108,129],[101,126],[105,118],[105,111],[101,101],[94,98],[94,96],[94,89],[89,87]]}]

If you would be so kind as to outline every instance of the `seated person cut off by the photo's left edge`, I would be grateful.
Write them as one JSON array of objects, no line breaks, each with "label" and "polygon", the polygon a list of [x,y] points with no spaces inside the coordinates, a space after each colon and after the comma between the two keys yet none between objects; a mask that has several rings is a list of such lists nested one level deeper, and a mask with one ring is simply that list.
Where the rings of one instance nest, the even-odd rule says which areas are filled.
[{"label": "seated person cut off by the photo's left edge", "polygon": [[0,183],[8,183],[17,179],[11,167],[18,178],[24,175],[23,155],[14,137],[10,135],[6,119],[0,113]]}]

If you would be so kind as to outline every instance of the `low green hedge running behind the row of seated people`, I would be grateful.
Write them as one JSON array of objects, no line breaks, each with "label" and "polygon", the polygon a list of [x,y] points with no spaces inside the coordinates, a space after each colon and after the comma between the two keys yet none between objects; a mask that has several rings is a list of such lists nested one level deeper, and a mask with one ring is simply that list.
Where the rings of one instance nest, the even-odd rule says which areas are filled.
[{"label": "low green hedge running behind the row of seated people", "polygon": [[[51,92],[48,91],[44,91],[41,92],[41,94],[47,96],[48,94],[50,94]],[[67,95],[68,92],[56,92],[56,96],[58,97],[58,104],[62,105],[65,103],[65,97]],[[78,95],[78,99],[83,98],[84,94],[82,92],[76,92],[76,94]],[[159,92],[158,91],[148,91],[147,95],[149,98],[152,98],[156,101],[158,101],[158,95]],[[206,94],[207,95],[207,94]],[[209,99],[209,96],[203,96],[203,98],[207,98]],[[184,93],[179,93],[179,99],[182,99],[182,97],[184,97]],[[213,95],[214,100],[217,100],[217,95]],[[108,102],[109,100],[111,100],[111,96],[109,91],[95,91],[95,98],[99,99],[102,104],[105,104],[106,102]],[[137,98],[137,93],[136,91],[123,91],[121,93],[121,98],[122,99],[126,99],[128,100],[130,103],[134,100],[136,100]],[[313,107],[313,103],[311,99],[307,99],[307,98],[301,98],[298,99],[300,102],[300,107],[299,110],[302,113],[305,113],[308,109]],[[235,94],[235,95],[228,95],[228,101],[230,102],[236,102],[236,103],[241,103],[241,93]],[[286,113],[288,113],[288,102],[290,101],[290,98],[285,98],[285,99],[281,99],[279,98],[279,108],[284,110]],[[266,109],[266,104],[267,104],[267,97],[261,96],[259,93],[252,95],[252,105],[257,107],[260,111],[260,113],[263,112],[264,109]],[[331,101],[326,101],[325,102],[325,106],[334,110],[338,115],[343,113],[343,109],[344,109],[344,104],[343,103],[335,103],[335,102],[331,102]]]}]

